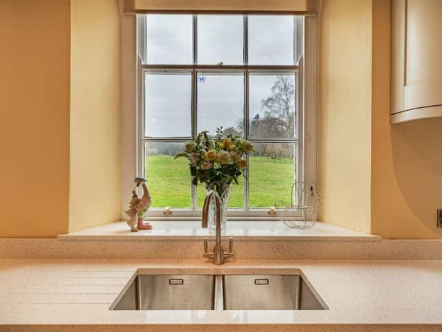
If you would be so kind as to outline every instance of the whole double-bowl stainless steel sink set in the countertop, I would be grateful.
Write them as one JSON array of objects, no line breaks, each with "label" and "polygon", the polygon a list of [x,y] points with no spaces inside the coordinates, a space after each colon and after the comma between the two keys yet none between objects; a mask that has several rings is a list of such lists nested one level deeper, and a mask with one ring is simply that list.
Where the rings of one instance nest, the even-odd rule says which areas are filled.
[{"label": "whole double-bowl stainless steel sink set in the countertop", "polygon": [[323,310],[301,275],[136,275],[111,310]]}]

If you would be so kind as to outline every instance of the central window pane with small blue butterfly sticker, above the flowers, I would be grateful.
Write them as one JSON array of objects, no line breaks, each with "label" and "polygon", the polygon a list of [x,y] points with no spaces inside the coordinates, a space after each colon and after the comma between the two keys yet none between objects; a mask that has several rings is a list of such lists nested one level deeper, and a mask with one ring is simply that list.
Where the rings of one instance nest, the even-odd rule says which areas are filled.
[{"label": "central window pane with small blue butterfly sticker, above the flowers", "polygon": [[198,131],[243,134],[244,75],[198,73]]}]

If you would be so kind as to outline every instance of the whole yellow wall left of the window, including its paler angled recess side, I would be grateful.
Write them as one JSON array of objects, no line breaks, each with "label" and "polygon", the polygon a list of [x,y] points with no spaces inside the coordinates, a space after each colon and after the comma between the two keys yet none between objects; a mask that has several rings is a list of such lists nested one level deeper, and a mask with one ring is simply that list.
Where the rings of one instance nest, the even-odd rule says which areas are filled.
[{"label": "whole yellow wall left of the window, including its paler angled recess side", "polygon": [[0,1],[0,237],[119,219],[120,30],[118,0]]}]

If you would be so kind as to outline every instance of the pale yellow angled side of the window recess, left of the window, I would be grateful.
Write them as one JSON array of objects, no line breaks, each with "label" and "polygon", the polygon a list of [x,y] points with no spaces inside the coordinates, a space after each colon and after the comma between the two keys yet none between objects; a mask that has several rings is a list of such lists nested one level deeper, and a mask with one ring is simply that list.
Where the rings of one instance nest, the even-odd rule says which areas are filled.
[{"label": "pale yellow angled side of the window recess, left of the window", "polygon": [[71,0],[69,230],[121,217],[118,0]]}]

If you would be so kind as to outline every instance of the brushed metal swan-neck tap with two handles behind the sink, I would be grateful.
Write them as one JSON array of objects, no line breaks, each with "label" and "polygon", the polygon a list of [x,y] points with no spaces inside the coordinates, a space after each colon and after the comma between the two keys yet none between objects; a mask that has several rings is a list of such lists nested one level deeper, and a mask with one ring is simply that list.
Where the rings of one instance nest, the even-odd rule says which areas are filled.
[{"label": "brushed metal swan-neck tap with two handles behind the sink", "polygon": [[204,205],[202,207],[202,220],[201,227],[207,228],[209,221],[209,207],[211,200],[215,200],[215,247],[213,248],[213,253],[208,252],[207,239],[204,239],[204,254],[202,257],[209,258],[213,261],[213,264],[224,264],[224,260],[229,257],[233,257],[233,239],[229,239],[229,252],[224,252],[222,248],[221,241],[221,199],[218,192],[210,190],[206,194],[206,199],[204,199]]}]

